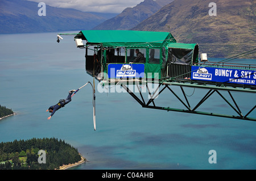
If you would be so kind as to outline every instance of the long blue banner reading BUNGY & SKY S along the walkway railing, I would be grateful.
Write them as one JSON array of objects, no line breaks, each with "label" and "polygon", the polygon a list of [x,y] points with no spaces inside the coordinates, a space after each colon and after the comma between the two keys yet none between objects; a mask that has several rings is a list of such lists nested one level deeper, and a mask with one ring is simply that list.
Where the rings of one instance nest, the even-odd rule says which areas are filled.
[{"label": "long blue banner reading BUNGY & SKY S along the walkway railing", "polygon": [[255,86],[256,71],[192,66],[191,79],[210,82],[238,83]]}]

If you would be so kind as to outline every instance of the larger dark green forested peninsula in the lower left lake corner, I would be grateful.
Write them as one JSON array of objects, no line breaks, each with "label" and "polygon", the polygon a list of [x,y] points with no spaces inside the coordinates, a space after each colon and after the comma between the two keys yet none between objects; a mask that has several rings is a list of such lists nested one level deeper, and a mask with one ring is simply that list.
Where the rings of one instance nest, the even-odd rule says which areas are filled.
[{"label": "larger dark green forested peninsula in the lower left lake corner", "polygon": [[[45,163],[40,163],[40,150],[45,151]],[[76,148],[57,138],[32,138],[0,144],[0,170],[54,170],[63,165],[81,163]]]}]

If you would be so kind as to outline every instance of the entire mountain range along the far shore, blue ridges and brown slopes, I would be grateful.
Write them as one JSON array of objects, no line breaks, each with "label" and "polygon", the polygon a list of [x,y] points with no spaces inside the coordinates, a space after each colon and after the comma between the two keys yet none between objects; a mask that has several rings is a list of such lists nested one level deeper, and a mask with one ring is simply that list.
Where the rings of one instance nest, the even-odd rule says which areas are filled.
[{"label": "entire mountain range along the far shore, blue ridges and brown slopes", "polygon": [[[230,57],[255,48],[256,0],[144,0],[121,14],[82,12],[38,3],[0,1],[0,33],[60,32],[77,30],[168,31],[179,43],[198,43],[209,57]],[[245,58],[256,58],[255,55]]]}]

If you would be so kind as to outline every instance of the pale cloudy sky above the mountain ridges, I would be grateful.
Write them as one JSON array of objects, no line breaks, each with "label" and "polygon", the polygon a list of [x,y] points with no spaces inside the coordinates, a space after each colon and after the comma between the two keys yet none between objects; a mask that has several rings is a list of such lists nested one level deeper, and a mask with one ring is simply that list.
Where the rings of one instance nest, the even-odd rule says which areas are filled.
[{"label": "pale cloudy sky above the mountain ridges", "polygon": [[53,7],[72,8],[86,12],[121,13],[126,7],[134,7],[144,0],[29,0],[44,2]]}]

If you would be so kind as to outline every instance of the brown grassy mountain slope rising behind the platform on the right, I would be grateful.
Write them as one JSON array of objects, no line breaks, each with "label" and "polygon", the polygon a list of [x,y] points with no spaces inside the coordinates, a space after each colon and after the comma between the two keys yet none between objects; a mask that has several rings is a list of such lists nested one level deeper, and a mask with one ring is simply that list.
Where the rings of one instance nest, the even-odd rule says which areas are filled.
[{"label": "brown grassy mountain slope rising behind the platform on the right", "polygon": [[201,44],[201,52],[210,57],[233,56],[255,48],[256,0],[216,0],[216,16],[209,15],[210,2],[175,0],[132,30],[170,31],[177,42]]}]

